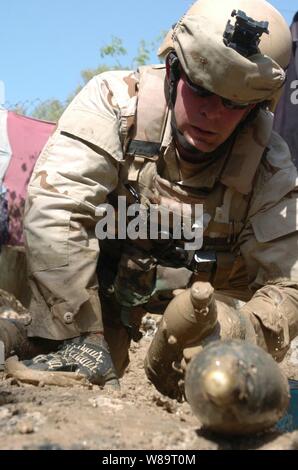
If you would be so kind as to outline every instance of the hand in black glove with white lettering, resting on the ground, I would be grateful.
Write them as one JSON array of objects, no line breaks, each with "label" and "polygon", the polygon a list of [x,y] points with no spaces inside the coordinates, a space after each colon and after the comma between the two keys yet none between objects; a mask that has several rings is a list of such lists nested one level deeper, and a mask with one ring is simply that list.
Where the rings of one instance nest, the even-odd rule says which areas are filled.
[{"label": "hand in black glove with white lettering, resting on the ground", "polygon": [[57,352],[23,361],[35,370],[78,372],[95,385],[120,389],[108,345],[101,334],[83,335],[64,341]]}]

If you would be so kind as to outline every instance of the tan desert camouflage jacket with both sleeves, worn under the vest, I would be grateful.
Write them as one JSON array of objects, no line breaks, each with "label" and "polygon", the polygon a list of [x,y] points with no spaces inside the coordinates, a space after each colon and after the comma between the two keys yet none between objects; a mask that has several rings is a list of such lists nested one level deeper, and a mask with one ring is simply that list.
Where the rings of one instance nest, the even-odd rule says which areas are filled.
[{"label": "tan desert camouflage jacket with both sleeves, worn under the vest", "polygon": [[[138,158],[127,158],[138,94],[136,73],[106,72],[93,78],[69,105],[37,161],[25,217],[32,336],[64,339],[102,329],[97,207],[113,192],[119,193],[123,174],[138,175],[132,178],[135,181],[147,174],[148,180],[156,168],[155,161],[149,159],[144,166],[141,159],[140,173]],[[154,99],[152,94],[147,99],[152,108]],[[163,181],[177,183],[182,190],[207,187],[209,200],[213,194],[217,198],[210,210],[219,219],[224,215],[217,209],[224,207],[225,195],[234,195],[229,204],[234,214],[241,213],[241,227],[233,251],[246,269],[250,296],[245,300],[252,297],[247,304],[252,312],[289,342],[298,331],[298,222],[297,172],[286,144],[255,122],[243,129],[233,152],[195,168],[177,159],[169,128],[162,143]],[[237,279],[237,265],[233,269]],[[237,297],[237,282],[234,286]],[[242,287],[243,282],[238,298]]]}]

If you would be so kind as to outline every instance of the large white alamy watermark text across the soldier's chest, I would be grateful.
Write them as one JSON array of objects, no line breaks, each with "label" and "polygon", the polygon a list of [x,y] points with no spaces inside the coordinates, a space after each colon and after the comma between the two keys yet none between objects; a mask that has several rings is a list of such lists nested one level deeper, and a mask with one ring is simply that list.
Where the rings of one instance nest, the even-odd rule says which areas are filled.
[{"label": "large white alamy watermark text across the soldier's chest", "polygon": [[101,204],[96,215],[101,217],[95,229],[99,240],[182,240],[187,251],[199,250],[203,245],[202,204],[147,207],[127,205],[126,197],[119,196],[117,210],[111,204]]}]

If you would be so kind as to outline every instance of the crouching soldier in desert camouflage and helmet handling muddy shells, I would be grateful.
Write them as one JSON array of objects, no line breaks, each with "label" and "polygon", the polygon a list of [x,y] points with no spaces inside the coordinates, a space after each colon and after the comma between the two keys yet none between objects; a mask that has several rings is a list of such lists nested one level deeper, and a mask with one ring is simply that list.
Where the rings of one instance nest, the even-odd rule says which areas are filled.
[{"label": "crouching soldier in desert camouflage and helmet handling muddy shells", "polygon": [[[272,132],[272,111],[290,47],[289,28],[269,3],[200,0],[161,47],[166,66],[106,72],[76,96],[28,188],[28,334],[58,349],[29,367],[78,370],[117,386],[138,336],[135,319],[156,306],[162,288],[159,300],[168,302],[173,288],[198,280],[212,283],[227,311],[237,307],[239,337],[284,354],[298,332],[297,173]],[[119,196],[169,214],[202,204],[202,248],[190,256],[183,240],[98,241],[98,208],[117,209]],[[183,330],[183,308],[176,313]],[[202,321],[186,328],[177,360],[218,322],[210,331]],[[177,396],[178,376],[165,385],[177,337],[162,328],[146,372]]]}]

